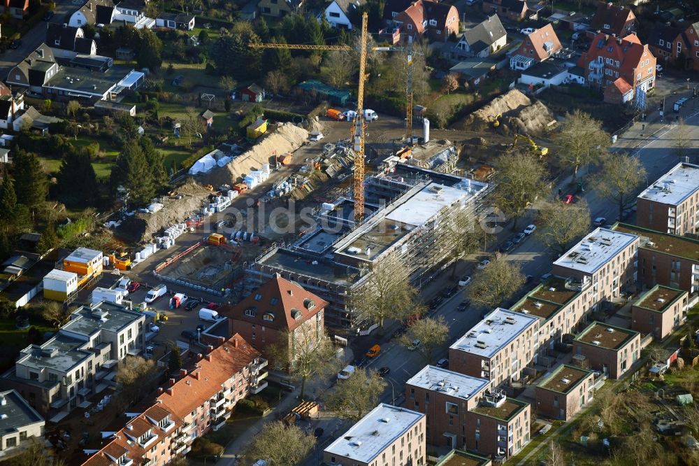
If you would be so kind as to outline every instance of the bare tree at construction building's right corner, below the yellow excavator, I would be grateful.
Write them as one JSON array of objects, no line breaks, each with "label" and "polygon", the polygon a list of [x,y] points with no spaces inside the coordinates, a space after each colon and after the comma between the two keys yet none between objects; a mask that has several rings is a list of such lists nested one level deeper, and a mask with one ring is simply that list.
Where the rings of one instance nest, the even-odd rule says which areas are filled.
[{"label": "bare tree at construction building's right corner, below the yellow excavator", "polygon": [[495,176],[495,204],[514,219],[512,230],[517,230],[527,207],[549,191],[546,167],[535,155],[513,150],[498,159]]}]

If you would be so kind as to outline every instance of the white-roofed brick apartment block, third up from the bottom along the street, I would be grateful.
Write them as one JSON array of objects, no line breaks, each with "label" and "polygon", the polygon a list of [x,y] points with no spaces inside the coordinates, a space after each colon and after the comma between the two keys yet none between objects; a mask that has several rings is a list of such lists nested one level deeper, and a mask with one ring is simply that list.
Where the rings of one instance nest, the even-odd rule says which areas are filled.
[{"label": "white-roofed brick apartment block, third up from the bottom along the street", "polygon": [[498,308],[449,347],[449,369],[488,379],[492,390],[519,381],[539,351],[539,318]]}]

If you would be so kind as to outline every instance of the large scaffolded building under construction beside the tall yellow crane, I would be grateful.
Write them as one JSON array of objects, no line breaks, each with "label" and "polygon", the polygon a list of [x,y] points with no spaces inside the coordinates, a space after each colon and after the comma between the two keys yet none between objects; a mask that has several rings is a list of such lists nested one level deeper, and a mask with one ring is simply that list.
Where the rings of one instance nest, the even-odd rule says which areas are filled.
[{"label": "large scaffolded building under construction beside the tall yellow crane", "polygon": [[275,274],[300,283],[326,299],[326,325],[361,326],[353,322],[345,299],[366,282],[373,264],[398,257],[421,288],[448,265],[450,251],[436,241],[447,228],[440,221],[451,209],[482,209],[489,185],[392,160],[365,181],[366,219],[354,222],[354,203],[340,197],[324,203],[317,226],[298,241],[274,246],[246,269],[246,292]]}]

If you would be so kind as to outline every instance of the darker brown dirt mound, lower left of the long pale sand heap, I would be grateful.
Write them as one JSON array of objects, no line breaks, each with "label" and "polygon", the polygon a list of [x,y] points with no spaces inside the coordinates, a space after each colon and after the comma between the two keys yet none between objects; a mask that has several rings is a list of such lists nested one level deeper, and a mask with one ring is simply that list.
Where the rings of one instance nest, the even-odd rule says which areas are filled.
[{"label": "darker brown dirt mound, lower left of the long pale sand heap", "polygon": [[195,211],[201,209],[202,202],[208,198],[210,191],[195,183],[187,183],[178,188],[178,193],[185,195],[182,199],[163,197],[158,202],[164,204],[160,211],[155,213],[136,213],[127,217],[115,231],[120,239],[129,243],[150,241],[154,234],[163,227],[167,228],[175,223],[180,223]]}]

